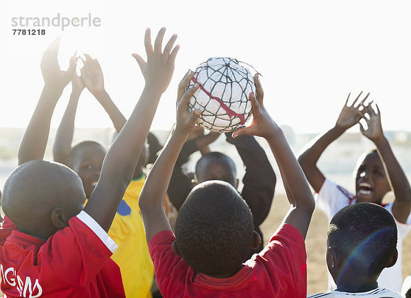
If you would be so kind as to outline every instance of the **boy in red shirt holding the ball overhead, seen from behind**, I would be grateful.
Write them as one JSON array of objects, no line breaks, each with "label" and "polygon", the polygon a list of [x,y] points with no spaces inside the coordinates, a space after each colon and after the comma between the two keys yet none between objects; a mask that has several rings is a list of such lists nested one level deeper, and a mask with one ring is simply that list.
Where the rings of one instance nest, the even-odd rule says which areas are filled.
[{"label": "boy in red shirt holding the ball overhead, seen from behind", "polygon": [[254,77],[257,96],[251,94],[253,123],[233,136],[262,136],[269,142],[291,205],[284,223],[269,245],[245,262],[249,249],[260,245],[253,217],[234,187],[213,180],[193,188],[179,210],[175,235],[171,231],[162,198],[199,114],[187,112],[188,101],[199,88],[196,84],[184,93],[192,75],[190,71],[179,84],[175,131],[151,169],[139,201],[163,297],[306,297],[304,238],[314,198],[282,130],[264,108],[258,75]]}]

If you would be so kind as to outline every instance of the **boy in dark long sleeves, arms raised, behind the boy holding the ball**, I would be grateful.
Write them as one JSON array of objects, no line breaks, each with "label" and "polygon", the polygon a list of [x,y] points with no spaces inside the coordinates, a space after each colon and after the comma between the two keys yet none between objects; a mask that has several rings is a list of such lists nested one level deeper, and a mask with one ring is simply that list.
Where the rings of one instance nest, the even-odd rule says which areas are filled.
[{"label": "boy in dark long sleeves, arms raised, behind the boy holding the ball", "polygon": [[[234,160],[224,153],[204,152],[203,147],[207,147],[219,137],[219,133],[210,132],[201,135],[184,143],[182,151],[173,169],[168,195],[171,203],[179,210],[184,203],[188,193],[192,190],[190,175],[185,175],[182,171],[182,164],[186,162],[191,153],[201,151],[201,158],[195,165],[195,183],[206,182],[208,180],[221,180],[228,182],[234,188],[238,188],[237,169]],[[260,225],[269,214],[275,192],[276,177],[269,159],[264,149],[258,144],[254,136],[239,136],[232,138],[232,133],[225,134],[226,141],[236,147],[238,154],[245,166],[245,175],[242,177],[241,197],[245,199],[251,213],[253,214],[254,229],[262,238]],[[253,253],[258,253],[264,246],[252,249],[249,257]]]}]

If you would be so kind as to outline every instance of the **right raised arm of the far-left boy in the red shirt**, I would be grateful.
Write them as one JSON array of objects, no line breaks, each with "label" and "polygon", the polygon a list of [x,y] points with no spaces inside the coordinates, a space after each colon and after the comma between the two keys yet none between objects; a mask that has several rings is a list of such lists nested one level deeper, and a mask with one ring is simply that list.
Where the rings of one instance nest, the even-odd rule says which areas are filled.
[{"label": "right raised arm of the far-left boy in the red shirt", "polygon": [[175,56],[179,49],[178,45],[173,48],[177,35],[170,38],[162,51],[164,32],[163,27],[155,38],[153,48],[150,30],[147,28],[147,63],[140,55],[133,54],[145,78],[145,88],[132,115],[105,156],[99,182],[84,208],[106,232],[110,229],[119,203],[132,179],[160,97],[173,75]]}]

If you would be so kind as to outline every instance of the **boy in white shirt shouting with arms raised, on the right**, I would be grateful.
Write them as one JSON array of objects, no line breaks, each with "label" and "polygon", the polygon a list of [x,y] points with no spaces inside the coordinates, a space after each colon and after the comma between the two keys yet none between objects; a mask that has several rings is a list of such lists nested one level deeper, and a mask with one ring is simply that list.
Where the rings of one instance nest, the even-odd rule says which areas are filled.
[{"label": "boy in white shirt shouting with arms raised, on the right", "polygon": [[[359,101],[360,95],[351,105],[348,104],[349,97],[347,98],[334,127],[310,142],[298,160],[308,182],[318,193],[316,206],[325,212],[329,220],[341,208],[357,202],[377,203],[393,214],[398,229],[397,249],[399,257],[395,266],[382,271],[378,282],[384,288],[399,292],[403,279],[401,269],[402,242],[411,230],[411,188],[406,174],[394,156],[390,143],[384,136],[378,105],[376,105],[375,110],[371,105],[372,101],[365,103],[369,95]],[[360,119],[364,119],[366,129],[360,123]],[[360,124],[362,134],[369,138],[377,149],[360,156],[355,178],[356,194],[353,195],[342,186],[327,179],[318,168],[317,162],[323,151],[334,140],[357,123]],[[395,200],[392,203],[382,204],[382,199],[391,190],[391,186]],[[329,290],[334,288],[335,285],[329,276]]]}]

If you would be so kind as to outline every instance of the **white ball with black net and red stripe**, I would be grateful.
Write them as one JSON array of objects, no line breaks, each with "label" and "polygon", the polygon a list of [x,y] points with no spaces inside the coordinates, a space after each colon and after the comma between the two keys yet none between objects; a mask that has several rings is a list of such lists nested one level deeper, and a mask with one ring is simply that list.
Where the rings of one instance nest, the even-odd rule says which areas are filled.
[{"label": "white ball with black net and red stripe", "polygon": [[214,132],[232,132],[251,116],[253,75],[236,59],[215,57],[197,66],[186,89],[199,83],[188,110],[200,110],[197,124]]}]

